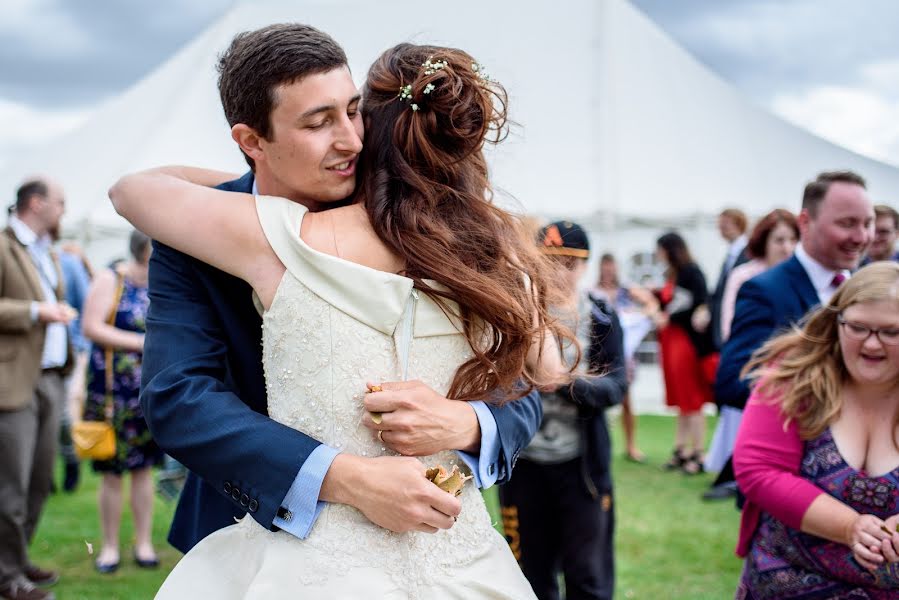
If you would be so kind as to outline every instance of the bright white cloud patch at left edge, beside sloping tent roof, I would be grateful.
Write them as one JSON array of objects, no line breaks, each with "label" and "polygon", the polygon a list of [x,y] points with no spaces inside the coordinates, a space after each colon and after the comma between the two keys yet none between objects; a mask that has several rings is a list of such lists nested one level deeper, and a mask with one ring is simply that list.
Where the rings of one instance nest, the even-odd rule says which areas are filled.
[{"label": "bright white cloud patch at left edge, beside sloping tent roof", "polygon": [[72,131],[93,113],[92,108],[41,110],[0,98],[0,167],[19,152]]}]

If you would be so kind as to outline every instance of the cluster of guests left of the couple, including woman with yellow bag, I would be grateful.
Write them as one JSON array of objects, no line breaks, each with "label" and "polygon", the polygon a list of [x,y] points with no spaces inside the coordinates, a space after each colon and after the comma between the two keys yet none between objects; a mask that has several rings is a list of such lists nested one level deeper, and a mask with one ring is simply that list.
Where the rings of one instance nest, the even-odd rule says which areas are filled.
[{"label": "cluster of guests left of the couple, including woman with yellow bag", "polygon": [[0,236],[0,595],[44,600],[58,574],[33,564],[28,545],[44,502],[61,487],[77,489],[78,421],[108,421],[115,455],[93,460],[103,474],[98,498],[102,546],[95,568],[120,562],[122,476],[131,474],[134,560],[155,568],[151,539],[153,478],[162,459],[138,401],[150,239],[133,232],[131,259],[95,271],[74,244],[57,251],[65,211],[62,188],[33,179],[17,191]]}]

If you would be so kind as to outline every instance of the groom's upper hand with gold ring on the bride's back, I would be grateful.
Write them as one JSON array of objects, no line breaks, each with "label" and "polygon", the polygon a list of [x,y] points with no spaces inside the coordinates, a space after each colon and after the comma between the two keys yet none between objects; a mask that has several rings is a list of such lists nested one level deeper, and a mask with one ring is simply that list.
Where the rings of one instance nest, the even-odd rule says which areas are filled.
[{"label": "groom's upper hand with gold ring on the bride's back", "polygon": [[[375,384],[370,384],[369,387]],[[481,427],[468,402],[449,400],[420,381],[378,383],[365,394],[362,423],[381,432],[381,441],[404,456],[430,456],[444,450],[477,452]],[[372,413],[380,413],[373,419]]]}]

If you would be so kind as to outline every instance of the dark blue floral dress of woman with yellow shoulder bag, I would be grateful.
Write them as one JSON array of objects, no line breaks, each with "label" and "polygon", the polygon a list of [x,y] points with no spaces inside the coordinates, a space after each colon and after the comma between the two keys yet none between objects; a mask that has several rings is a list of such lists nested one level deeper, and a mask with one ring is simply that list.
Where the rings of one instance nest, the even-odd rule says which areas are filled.
[{"label": "dark blue floral dress of woman with yellow shoulder bag", "polygon": [[[146,286],[136,286],[126,277],[116,311],[115,326],[125,331],[144,333],[149,304]],[[121,474],[161,462],[162,451],[150,435],[138,399],[141,353],[115,350],[112,358],[112,423],[116,431],[116,455],[109,460],[93,461],[93,467],[95,471]],[[88,363],[84,420],[102,421],[105,405],[105,349],[94,344]]]}]

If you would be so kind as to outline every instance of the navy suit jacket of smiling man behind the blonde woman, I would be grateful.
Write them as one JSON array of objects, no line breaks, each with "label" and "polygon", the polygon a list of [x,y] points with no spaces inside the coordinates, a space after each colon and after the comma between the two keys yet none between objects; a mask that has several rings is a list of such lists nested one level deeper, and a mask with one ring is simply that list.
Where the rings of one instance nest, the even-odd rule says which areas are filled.
[{"label": "navy suit jacket of smiling man behind the blonde woman", "polygon": [[715,401],[742,410],[750,390],[740,371],[752,353],[818,304],[818,293],[795,255],[744,283],[737,292],[730,338],[721,350]]}]

